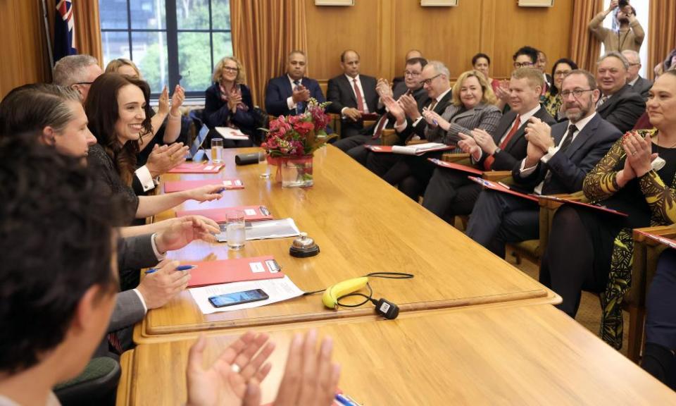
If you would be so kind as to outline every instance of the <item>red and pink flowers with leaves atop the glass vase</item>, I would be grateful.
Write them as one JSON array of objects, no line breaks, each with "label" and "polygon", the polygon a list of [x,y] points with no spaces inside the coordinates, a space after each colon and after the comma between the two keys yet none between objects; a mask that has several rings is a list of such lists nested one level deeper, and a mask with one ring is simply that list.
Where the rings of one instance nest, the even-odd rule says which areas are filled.
[{"label": "red and pink flowers with leaves atop the glass vase", "polygon": [[261,147],[268,156],[308,156],[336,135],[327,135],[326,128],[330,117],[325,107],[330,102],[308,101],[304,113],[297,116],[279,116],[270,121],[268,135]]}]

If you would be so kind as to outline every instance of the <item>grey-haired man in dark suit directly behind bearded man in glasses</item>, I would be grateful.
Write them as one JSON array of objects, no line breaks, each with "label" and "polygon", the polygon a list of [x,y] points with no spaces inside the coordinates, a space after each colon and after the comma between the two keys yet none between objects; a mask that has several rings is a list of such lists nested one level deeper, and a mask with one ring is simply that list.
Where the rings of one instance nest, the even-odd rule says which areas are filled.
[{"label": "grey-haired man in dark suit directly behind bearded man in glasses", "polygon": [[641,114],[646,111],[646,102],[641,95],[627,85],[628,69],[629,62],[619,52],[608,52],[601,56],[596,67],[596,82],[601,90],[596,112],[622,133],[634,128]]}]

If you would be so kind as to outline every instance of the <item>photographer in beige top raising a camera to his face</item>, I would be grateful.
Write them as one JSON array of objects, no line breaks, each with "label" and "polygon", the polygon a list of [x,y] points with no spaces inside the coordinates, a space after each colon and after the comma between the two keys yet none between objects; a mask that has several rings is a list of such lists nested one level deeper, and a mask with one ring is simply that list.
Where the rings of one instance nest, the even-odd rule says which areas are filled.
[{"label": "photographer in beige top raising a camera to his face", "polygon": [[[620,30],[615,31],[603,27],[603,20],[612,13],[615,8],[618,8],[618,24]],[[596,39],[603,42],[603,47],[606,47],[606,52],[618,51],[622,52],[625,49],[632,49],[639,51],[646,33],[641,27],[641,23],[636,19],[636,10],[629,5],[627,0],[612,0],[611,6],[606,11],[601,11],[591,21],[589,21],[589,31],[594,34]]]}]

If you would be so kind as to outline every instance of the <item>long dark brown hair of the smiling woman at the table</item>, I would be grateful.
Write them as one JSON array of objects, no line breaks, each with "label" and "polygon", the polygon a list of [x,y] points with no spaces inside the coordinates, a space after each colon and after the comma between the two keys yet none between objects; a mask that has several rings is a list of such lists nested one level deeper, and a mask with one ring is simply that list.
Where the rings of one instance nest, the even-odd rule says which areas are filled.
[{"label": "long dark brown hair of the smiling woman at the table", "polygon": [[131,185],[136,170],[136,156],[139,153],[139,142],[127,141],[120,147],[115,135],[115,123],[120,116],[118,111],[118,93],[122,87],[134,85],[143,92],[146,101],[146,118],[143,121],[142,135],[149,134],[151,126],[150,87],[143,80],[130,78],[117,73],[104,73],[94,80],[89,88],[89,95],[84,102],[84,112],[89,120],[89,131],[96,141],[104,147],[106,154],[113,159],[115,168],[123,182]]}]

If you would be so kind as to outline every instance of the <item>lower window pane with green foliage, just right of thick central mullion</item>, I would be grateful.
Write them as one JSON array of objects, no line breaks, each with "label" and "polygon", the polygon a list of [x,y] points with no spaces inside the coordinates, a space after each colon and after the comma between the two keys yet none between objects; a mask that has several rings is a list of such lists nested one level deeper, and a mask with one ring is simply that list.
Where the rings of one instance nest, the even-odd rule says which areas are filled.
[{"label": "lower window pane with green foliage, just right of thick central mullion", "polygon": [[208,32],[178,33],[178,69],[187,92],[204,92],[211,85]]}]

